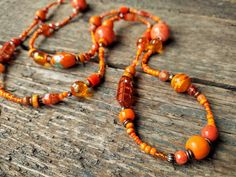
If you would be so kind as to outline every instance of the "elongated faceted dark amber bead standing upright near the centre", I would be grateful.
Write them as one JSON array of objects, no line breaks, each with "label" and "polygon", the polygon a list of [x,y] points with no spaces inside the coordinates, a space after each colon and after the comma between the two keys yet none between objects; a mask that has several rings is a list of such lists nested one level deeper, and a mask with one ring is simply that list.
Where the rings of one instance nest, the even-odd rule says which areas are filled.
[{"label": "elongated faceted dark amber bead standing upright near the centre", "polygon": [[116,99],[122,107],[130,107],[133,103],[133,81],[130,77],[122,76],[118,89]]}]

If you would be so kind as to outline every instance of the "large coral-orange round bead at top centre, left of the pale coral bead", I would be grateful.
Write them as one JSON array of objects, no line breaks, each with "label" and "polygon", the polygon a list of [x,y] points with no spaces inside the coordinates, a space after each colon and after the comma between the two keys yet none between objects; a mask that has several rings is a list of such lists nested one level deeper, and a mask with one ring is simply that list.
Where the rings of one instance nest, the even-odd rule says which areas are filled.
[{"label": "large coral-orange round bead at top centre, left of the pale coral bead", "polygon": [[115,33],[109,26],[100,26],[96,29],[95,40],[103,45],[110,45],[115,40]]}]

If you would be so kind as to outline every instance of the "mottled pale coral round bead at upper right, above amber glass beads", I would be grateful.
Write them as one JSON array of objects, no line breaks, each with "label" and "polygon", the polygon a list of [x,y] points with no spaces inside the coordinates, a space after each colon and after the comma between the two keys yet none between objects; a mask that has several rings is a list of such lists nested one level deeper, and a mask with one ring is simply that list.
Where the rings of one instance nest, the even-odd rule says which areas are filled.
[{"label": "mottled pale coral round bead at upper right, above amber glass beads", "polygon": [[167,41],[170,36],[169,27],[165,22],[159,22],[152,27],[151,38],[157,39],[160,38],[162,42]]}]

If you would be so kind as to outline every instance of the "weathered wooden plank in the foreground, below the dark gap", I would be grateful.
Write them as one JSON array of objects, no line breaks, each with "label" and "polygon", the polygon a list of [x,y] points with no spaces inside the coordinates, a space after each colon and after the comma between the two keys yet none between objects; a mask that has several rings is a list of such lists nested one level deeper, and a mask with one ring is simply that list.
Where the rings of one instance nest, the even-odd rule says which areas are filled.
[{"label": "weathered wooden plank in the foreground, below the dark gap", "polygon": [[[9,68],[7,86],[20,95],[64,90],[96,66],[91,63],[79,69],[51,71],[36,66],[22,52],[14,67]],[[23,74],[28,72],[33,74]],[[235,166],[228,164],[235,161],[229,154],[236,151],[233,118],[236,110],[232,109],[235,92],[200,85],[212,102],[220,127],[219,145],[212,159],[174,169],[140,152],[116,123],[119,106],[114,93],[119,77],[114,75],[121,74],[122,70],[109,67],[106,82],[93,98],[81,102],[73,99],[53,108],[33,110],[3,101],[2,170],[11,174],[8,171],[11,168],[11,175],[24,176],[172,176],[175,173],[185,176],[210,175],[212,171],[215,175],[232,175]],[[155,78],[143,75],[138,81],[135,109],[141,137],[165,151],[183,147],[187,137],[198,133],[204,125],[204,111],[193,99],[174,93]]]}]

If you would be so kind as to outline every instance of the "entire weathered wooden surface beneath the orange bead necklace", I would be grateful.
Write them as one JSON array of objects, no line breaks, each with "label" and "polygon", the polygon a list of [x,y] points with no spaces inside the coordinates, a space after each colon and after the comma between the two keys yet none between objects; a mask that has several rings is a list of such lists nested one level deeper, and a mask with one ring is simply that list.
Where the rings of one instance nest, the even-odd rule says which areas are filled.
[{"label": "entire weathered wooden surface beneath the orange bead necklace", "polygon": [[[50,0],[51,1],[51,0]],[[34,12],[48,0],[0,1],[0,42],[20,34]],[[142,25],[119,23],[117,42],[106,52],[105,82],[90,99],[70,99],[42,109],[26,108],[0,99],[0,176],[236,176],[236,1],[235,0],[90,0],[90,10],[40,48],[86,51],[90,46],[88,19],[122,4],[148,10],[166,20],[172,39],[151,65],[185,72],[212,105],[220,138],[212,156],[186,166],[172,166],[143,154],[117,121],[117,82],[135,54]],[[55,11],[52,20],[70,13]],[[27,46],[25,42],[25,46]],[[23,96],[62,91],[97,69],[97,59],[69,70],[36,65],[26,49],[8,67],[8,90]],[[158,60],[157,60],[158,58]],[[138,133],[160,150],[184,147],[205,124],[205,112],[189,96],[139,70],[135,84]]]}]

